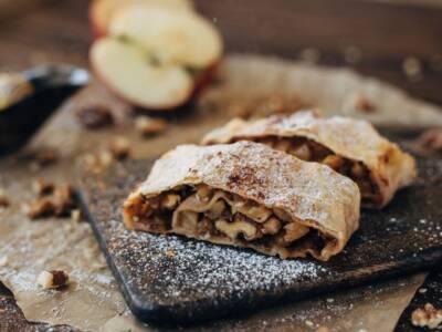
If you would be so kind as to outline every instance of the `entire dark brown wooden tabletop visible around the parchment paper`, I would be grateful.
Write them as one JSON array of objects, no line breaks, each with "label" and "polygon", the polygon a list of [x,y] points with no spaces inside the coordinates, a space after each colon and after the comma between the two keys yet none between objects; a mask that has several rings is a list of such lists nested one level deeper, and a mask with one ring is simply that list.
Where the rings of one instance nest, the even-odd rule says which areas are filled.
[{"label": "entire dark brown wooden tabletop visible around the parchment paper", "polygon": [[[355,0],[196,2],[219,24],[229,52],[347,65],[442,104],[442,7]],[[45,62],[86,66],[87,6],[85,0],[42,1],[1,17],[0,71]],[[408,75],[404,63],[418,71]],[[48,328],[28,323],[11,294],[0,287],[1,326]]]}]

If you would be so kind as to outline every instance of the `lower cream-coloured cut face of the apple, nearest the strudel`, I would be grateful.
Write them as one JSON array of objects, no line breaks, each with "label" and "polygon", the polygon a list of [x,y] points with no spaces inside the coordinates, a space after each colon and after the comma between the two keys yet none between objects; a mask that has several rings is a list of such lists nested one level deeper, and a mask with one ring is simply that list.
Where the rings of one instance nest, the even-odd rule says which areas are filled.
[{"label": "lower cream-coloured cut face of the apple, nearest the strudel", "polygon": [[131,42],[102,38],[93,44],[90,56],[96,75],[112,92],[143,108],[176,108],[189,100],[194,87],[183,68],[157,65]]}]

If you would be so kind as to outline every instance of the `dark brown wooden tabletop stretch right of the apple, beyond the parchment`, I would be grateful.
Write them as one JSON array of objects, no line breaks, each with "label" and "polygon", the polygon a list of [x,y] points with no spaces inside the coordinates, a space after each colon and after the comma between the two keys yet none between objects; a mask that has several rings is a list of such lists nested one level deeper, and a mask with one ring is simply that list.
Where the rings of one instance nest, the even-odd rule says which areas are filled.
[{"label": "dark brown wooden tabletop stretch right of the apple, beyond the parchment", "polygon": [[[391,2],[275,0],[197,0],[198,8],[221,28],[228,51],[299,59],[319,51],[319,63],[346,65],[382,79],[415,96],[442,103],[442,10]],[[356,63],[348,52],[360,51]],[[355,54],[352,54],[355,55]],[[402,69],[407,58],[421,63],[422,77]]]}]

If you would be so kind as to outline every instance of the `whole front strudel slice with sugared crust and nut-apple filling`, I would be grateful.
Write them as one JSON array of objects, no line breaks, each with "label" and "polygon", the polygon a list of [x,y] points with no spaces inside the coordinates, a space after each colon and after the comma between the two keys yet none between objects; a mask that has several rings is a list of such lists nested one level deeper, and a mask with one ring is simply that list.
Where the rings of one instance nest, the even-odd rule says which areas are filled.
[{"label": "whole front strudel slice with sugared crust and nut-apple filling", "polygon": [[182,145],[124,204],[129,229],[328,260],[359,225],[357,185],[266,145]]}]

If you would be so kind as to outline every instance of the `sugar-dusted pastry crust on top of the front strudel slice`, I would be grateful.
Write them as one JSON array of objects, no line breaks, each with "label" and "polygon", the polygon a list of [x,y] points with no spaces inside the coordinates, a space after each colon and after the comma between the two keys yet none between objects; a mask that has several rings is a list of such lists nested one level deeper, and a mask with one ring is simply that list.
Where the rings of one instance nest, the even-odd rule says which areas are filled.
[{"label": "sugar-dusted pastry crust on top of the front strudel slice", "polygon": [[[313,220],[337,240],[332,255],[358,227],[360,198],[354,181],[327,166],[252,142],[178,146],[156,162],[135,195],[156,196],[199,183],[282,208],[294,219]],[[329,253],[322,255],[327,258]]]}]

